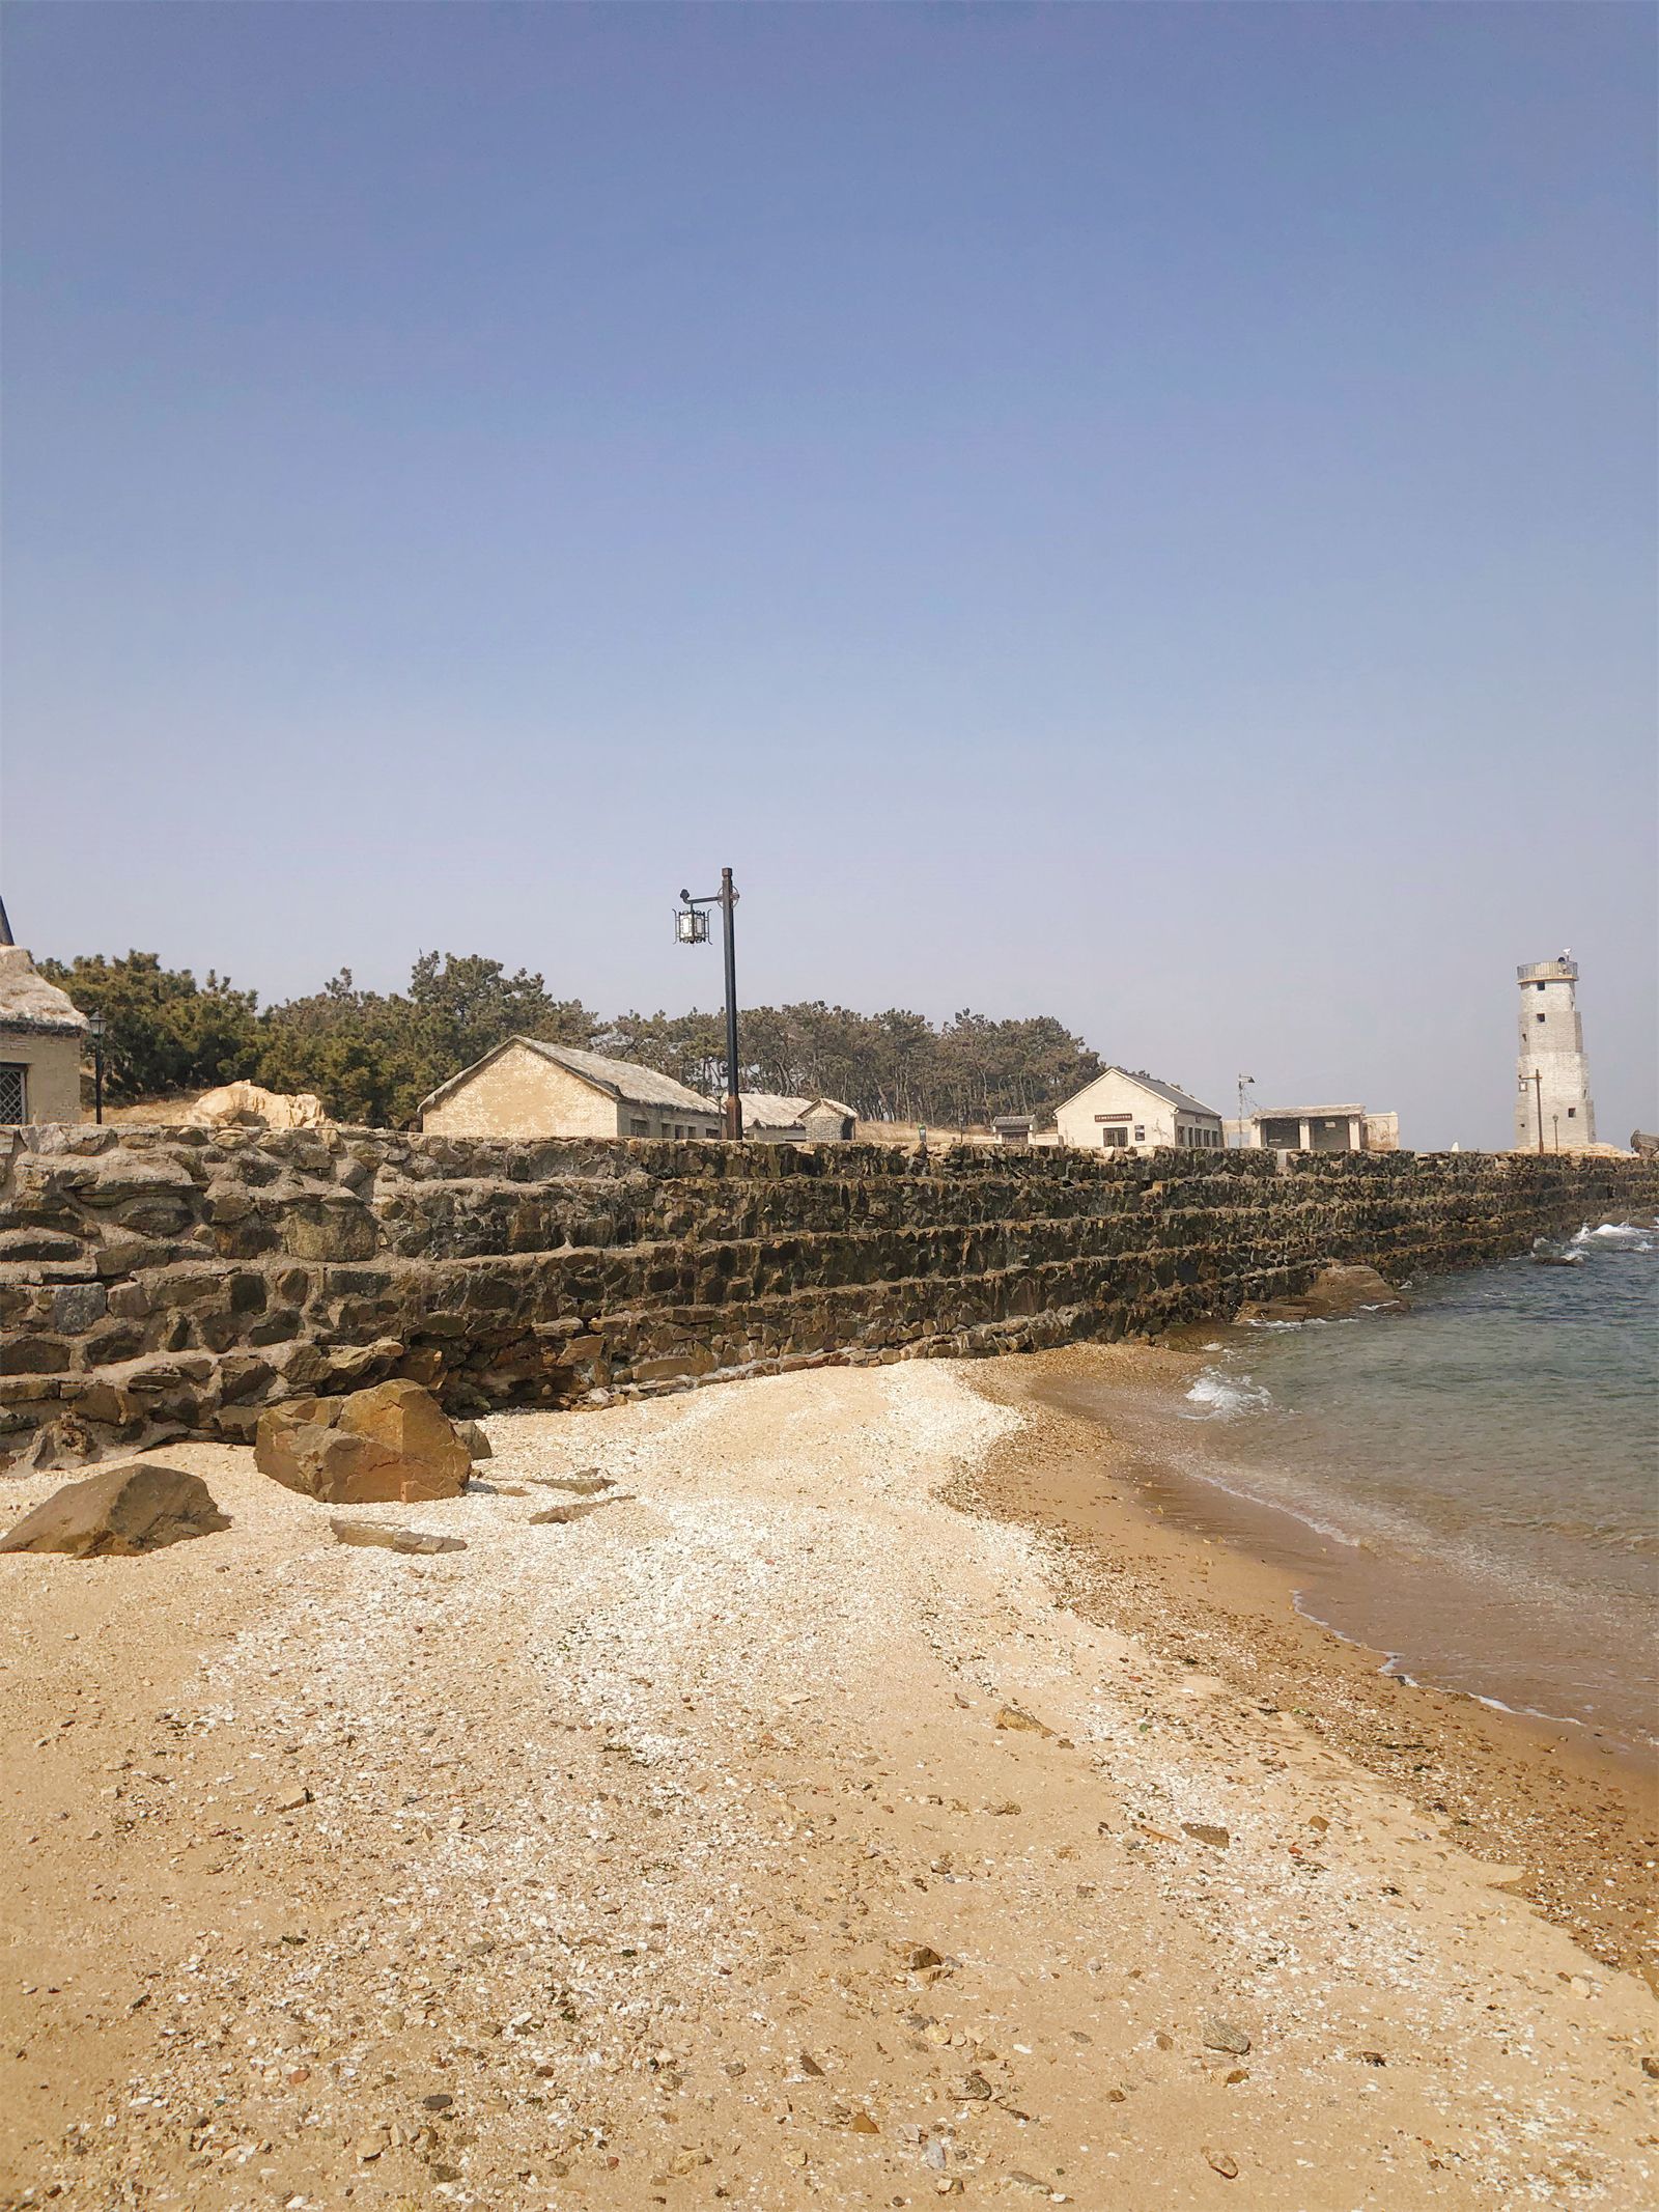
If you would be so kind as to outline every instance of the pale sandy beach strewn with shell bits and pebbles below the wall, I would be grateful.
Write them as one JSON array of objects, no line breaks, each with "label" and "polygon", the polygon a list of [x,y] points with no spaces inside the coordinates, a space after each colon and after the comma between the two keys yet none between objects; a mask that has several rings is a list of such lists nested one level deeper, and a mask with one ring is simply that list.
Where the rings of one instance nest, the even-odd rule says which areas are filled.
[{"label": "pale sandy beach strewn with shell bits and pebbles below the wall", "polygon": [[1652,2203],[1624,1781],[1458,1763],[1053,1378],[500,1416],[361,1513],[440,1557],[173,1447],[230,1531],[0,1559],[0,2203]]}]

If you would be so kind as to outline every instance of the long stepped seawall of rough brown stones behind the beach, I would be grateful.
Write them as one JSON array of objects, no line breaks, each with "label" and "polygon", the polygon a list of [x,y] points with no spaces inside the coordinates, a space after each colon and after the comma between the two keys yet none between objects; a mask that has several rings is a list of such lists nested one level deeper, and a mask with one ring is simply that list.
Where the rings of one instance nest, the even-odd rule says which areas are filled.
[{"label": "long stepped seawall of rough brown stones behind the beach", "polygon": [[451,1411],[1022,1352],[1396,1281],[1659,1206],[1659,1164],[938,1155],[389,1130],[0,1137],[0,1455],[58,1464],[416,1376]]}]

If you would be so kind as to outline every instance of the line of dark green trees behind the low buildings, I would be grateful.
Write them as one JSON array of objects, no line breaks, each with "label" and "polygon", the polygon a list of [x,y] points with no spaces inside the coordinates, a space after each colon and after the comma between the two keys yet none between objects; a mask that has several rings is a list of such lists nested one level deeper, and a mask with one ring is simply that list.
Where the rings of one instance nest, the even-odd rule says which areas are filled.
[{"label": "line of dark green trees behind the low buildings", "polygon": [[[507,973],[478,953],[422,953],[407,991],[361,991],[341,969],[310,998],[259,1006],[228,975],[197,982],[155,953],[42,960],[82,1013],[106,1022],[113,1099],[166,1097],[252,1077],[270,1091],[314,1091],[341,1121],[398,1126],[429,1091],[504,1037],[580,1044],[675,1075],[708,1097],[723,1088],[719,1013],[622,1013],[553,998],[540,975]],[[845,1099],[872,1119],[938,1128],[1029,1113],[1066,1097],[1099,1057],[1051,1015],[991,1022],[847,1006],[745,1006],[743,1088]]]}]

